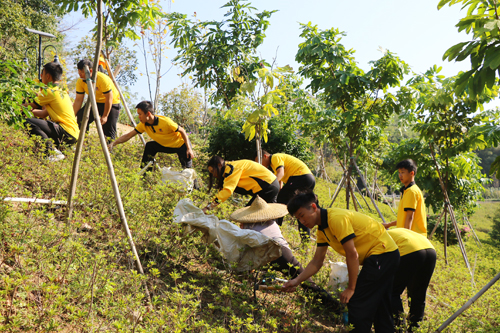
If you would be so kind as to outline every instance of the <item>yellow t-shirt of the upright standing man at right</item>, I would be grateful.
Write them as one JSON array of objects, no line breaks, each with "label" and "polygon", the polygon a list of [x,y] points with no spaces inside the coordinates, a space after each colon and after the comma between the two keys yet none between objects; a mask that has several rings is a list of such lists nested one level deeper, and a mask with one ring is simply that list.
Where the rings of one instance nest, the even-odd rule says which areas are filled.
[{"label": "yellow t-shirt of the upright standing man at right", "polygon": [[427,237],[427,214],[425,213],[425,203],[422,191],[415,183],[410,183],[401,194],[401,201],[398,207],[397,228],[405,227],[405,217],[407,210],[413,210],[413,223],[411,230]]}]

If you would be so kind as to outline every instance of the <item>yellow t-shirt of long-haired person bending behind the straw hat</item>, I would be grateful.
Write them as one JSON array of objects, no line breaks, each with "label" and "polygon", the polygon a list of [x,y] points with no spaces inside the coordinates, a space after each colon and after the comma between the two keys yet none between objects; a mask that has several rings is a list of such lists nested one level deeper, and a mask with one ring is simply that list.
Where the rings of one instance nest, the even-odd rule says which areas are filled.
[{"label": "yellow t-shirt of long-haired person bending behind the straw hat", "polygon": [[233,192],[238,194],[255,194],[276,180],[262,164],[250,160],[226,161],[224,184],[217,193],[217,199],[224,202]]}]

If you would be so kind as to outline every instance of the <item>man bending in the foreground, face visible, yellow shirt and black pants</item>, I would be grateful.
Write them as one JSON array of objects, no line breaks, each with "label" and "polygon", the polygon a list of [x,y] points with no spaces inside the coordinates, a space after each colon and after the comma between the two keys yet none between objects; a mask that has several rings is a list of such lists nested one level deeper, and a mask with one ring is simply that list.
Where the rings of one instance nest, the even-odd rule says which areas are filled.
[{"label": "man bending in the foreground, face visible, yellow shirt and black pants", "polygon": [[[399,250],[385,228],[364,214],[340,208],[322,209],[318,198],[309,191],[299,193],[288,203],[290,215],[308,228],[318,226],[317,247],[313,259],[295,279],[283,285],[294,291],[301,282],[316,274],[325,260],[328,246],[346,257],[349,282],[340,294],[347,304],[350,332],[394,332],[391,296]],[[359,266],[363,269],[359,272]],[[359,276],[358,276],[359,273]]]}]

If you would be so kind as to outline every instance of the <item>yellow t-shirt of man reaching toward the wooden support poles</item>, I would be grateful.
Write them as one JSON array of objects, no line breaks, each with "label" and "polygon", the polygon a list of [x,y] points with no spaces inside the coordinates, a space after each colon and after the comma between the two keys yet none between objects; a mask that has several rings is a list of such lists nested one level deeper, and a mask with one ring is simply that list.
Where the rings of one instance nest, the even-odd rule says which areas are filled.
[{"label": "yellow t-shirt of man reaching toward the wooden support poles", "polygon": [[179,148],[184,144],[182,135],[177,130],[179,125],[165,116],[156,116],[153,125],[139,123],[135,127],[137,133],[148,133],[149,137],[163,147]]}]

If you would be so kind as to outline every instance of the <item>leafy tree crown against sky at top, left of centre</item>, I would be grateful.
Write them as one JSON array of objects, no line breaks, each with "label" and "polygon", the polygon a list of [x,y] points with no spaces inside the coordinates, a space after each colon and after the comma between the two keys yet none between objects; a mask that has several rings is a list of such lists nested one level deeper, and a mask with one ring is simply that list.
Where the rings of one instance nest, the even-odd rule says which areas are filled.
[{"label": "leafy tree crown against sky at top, left of centre", "polygon": [[187,15],[172,13],[172,43],[179,49],[174,59],[193,79],[195,88],[214,89],[210,102],[231,108],[232,100],[243,82],[233,80],[239,68],[242,74],[254,75],[261,62],[256,49],[264,41],[269,17],[275,11],[253,13],[256,8],[245,0],[231,0],[222,8],[228,12],[222,21],[195,21]]}]

